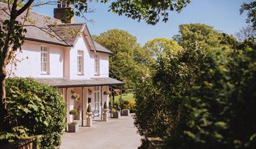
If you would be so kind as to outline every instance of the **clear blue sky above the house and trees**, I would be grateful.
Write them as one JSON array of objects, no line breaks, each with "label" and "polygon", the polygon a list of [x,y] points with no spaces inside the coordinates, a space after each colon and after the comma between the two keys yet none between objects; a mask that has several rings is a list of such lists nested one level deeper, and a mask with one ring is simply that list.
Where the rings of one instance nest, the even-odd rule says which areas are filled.
[{"label": "clear blue sky above the house and trees", "polygon": [[[101,3],[90,3],[89,7],[96,10],[94,13],[86,14],[88,28],[92,35],[109,29],[123,29],[137,37],[141,44],[155,39],[165,37],[171,39],[178,33],[180,24],[204,23],[215,27],[225,33],[234,34],[243,26],[246,26],[246,14],[240,15],[239,9],[243,2],[249,3],[253,0],[191,0],[191,3],[180,13],[171,12],[168,22],[159,22],[156,25],[147,25],[145,22],[137,22],[125,16],[118,16],[107,12],[108,5]],[[43,6],[33,8],[35,12],[53,16],[53,8],[56,6]],[[84,22],[83,18],[76,17],[75,22]]]}]

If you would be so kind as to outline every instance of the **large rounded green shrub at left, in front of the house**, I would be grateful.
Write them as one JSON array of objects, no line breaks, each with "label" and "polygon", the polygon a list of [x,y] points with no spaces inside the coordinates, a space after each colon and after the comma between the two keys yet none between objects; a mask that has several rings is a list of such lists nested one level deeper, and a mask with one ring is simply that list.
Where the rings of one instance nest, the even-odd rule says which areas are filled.
[{"label": "large rounded green shrub at left, in front of the house", "polygon": [[[12,129],[23,134],[42,135],[40,148],[58,148],[65,127],[65,103],[60,93],[33,78],[8,78],[7,109]],[[12,131],[16,135],[17,130]]]}]

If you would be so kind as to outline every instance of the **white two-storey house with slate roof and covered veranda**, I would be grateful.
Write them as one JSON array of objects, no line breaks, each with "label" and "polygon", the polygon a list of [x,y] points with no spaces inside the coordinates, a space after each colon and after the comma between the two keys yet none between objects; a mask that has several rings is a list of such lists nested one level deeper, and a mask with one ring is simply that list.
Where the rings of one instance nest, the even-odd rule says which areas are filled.
[{"label": "white two-storey house with slate roof and covered veranda", "polygon": [[[0,18],[8,18],[3,11],[8,11],[7,5],[0,3],[0,8]],[[58,88],[67,103],[66,122],[72,118],[69,110],[76,108],[81,110],[76,119],[85,125],[83,120],[86,119],[88,104],[94,112],[101,114],[103,103],[109,103],[109,96],[103,92],[109,90],[109,86],[123,83],[109,78],[109,55],[113,53],[93,41],[86,24],[74,24],[73,18],[67,20],[67,24],[61,23],[65,9],[71,7],[59,4],[54,9],[55,18],[30,12],[29,18],[35,26],[26,27],[22,52],[16,53],[20,62],[16,69],[10,64],[8,71],[14,76],[32,77]],[[21,17],[19,19],[22,20]],[[72,93],[78,93],[79,100],[71,99]]]}]

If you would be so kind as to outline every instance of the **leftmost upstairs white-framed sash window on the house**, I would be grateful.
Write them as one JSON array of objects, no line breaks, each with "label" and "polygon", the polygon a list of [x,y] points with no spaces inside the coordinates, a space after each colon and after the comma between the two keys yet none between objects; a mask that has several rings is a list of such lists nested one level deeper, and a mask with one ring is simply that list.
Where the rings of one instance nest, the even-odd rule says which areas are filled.
[{"label": "leftmost upstairs white-framed sash window on the house", "polygon": [[41,58],[41,74],[49,74],[49,63],[50,63],[50,58],[49,58],[49,49],[47,46],[41,46],[40,50],[40,58]]}]

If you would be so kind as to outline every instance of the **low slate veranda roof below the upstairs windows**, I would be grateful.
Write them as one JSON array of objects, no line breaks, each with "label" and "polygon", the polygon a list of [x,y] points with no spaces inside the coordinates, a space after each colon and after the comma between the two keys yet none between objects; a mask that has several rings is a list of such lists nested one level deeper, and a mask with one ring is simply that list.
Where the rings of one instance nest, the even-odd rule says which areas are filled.
[{"label": "low slate veranda roof below the upstairs windows", "polygon": [[87,80],[72,80],[69,78],[35,78],[38,82],[54,86],[56,88],[75,88],[86,86],[121,85],[123,82],[114,78],[91,78]]}]

